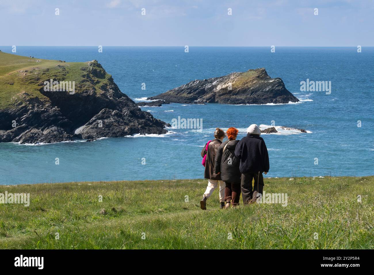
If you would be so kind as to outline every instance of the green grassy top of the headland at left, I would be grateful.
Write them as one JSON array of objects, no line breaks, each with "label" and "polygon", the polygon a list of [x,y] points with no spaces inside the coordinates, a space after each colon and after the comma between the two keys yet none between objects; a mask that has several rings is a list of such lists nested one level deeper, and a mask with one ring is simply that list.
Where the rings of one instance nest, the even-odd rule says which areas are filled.
[{"label": "green grassy top of the headland at left", "polygon": [[[99,74],[95,76],[88,70],[90,64]],[[12,107],[16,101],[23,103],[25,96],[48,101],[40,93],[46,80],[75,81],[75,92],[80,92],[84,89],[99,91],[109,78],[111,75],[96,61],[62,62],[0,52],[0,110]]]}]

